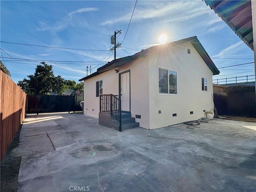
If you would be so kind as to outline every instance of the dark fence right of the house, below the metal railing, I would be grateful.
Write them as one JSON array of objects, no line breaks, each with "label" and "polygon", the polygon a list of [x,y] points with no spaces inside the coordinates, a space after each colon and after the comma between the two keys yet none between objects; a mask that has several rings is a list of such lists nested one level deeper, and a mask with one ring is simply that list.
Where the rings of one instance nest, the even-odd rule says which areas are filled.
[{"label": "dark fence right of the house, below the metal railing", "polygon": [[219,115],[256,118],[255,86],[231,86],[214,92]]}]

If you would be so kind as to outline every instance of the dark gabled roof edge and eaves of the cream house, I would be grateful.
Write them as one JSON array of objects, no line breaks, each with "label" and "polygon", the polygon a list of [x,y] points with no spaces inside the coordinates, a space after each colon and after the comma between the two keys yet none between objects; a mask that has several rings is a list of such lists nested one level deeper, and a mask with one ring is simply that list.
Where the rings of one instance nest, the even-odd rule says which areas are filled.
[{"label": "dark gabled roof edge and eaves of the cream house", "polygon": [[[210,56],[208,55],[208,53],[206,52],[206,50],[204,49],[204,47],[202,46],[202,44],[199,42],[198,38],[196,36],[193,37],[189,37],[189,38],[185,38],[182,40],[178,40],[178,41],[174,41],[174,42],[170,42],[168,44],[164,44],[167,46],[177,46],[180,44],[184,44],[190,42],[192,44],[192,46],[196,49],[196,51],[198,52],[198,54],[201,56],[201,58],[204,60],[204,62],[206,63],[206,65],[210,68],[210,70],[212,71],[213,75],[217,75],[220,74],[220,71],[218,70],[218,68],[215,66],[215,64],[213,63],[213,61],[211,60]],[[132,56],[127,56],[127,57],[123,57],[123,58],[119,58],[116,60],[112,60],[111,62],[108,62],[107,64],[105,64],[104,66],[100,67],[97,69],[96,72],[94,72],[93,74],[90,74],[82,79],[80,79],[79,81],[83,81],[86,79],[89,79],[93,76],[96,76],[102,72],[108,71],[110,69],[122,66],[124,64],[127,64],[141,56],[144,56],[150,52],[154,52],[154,50],[156,50],[159,46],[162,45],[158,45],[158,46],[153,46],[150,48],[147,48],[145,50],[142,50]]]}]

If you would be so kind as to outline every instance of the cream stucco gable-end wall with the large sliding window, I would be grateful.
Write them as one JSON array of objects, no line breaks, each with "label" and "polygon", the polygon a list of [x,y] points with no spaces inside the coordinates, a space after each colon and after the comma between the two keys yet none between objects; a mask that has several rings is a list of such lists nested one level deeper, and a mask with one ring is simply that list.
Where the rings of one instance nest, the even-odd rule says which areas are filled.
[{"label": "cream stucco gable-end wall with the large sliding window", "polygon": [[[187,53],[187,49],[191,54]],[[204,117],[212,108],[212,72],[190,42],[172,48],[162,47],[149,54],[150,129]],[[178,72],[178,94],[158,94],[158,66]],[[208,91],[202,92],[201,78],[208,78]],[[158,114],[161,110],[161,114]],[[190,111],[194,114],[190,115]],[[176,113],[177,116],[172,116]]]}]

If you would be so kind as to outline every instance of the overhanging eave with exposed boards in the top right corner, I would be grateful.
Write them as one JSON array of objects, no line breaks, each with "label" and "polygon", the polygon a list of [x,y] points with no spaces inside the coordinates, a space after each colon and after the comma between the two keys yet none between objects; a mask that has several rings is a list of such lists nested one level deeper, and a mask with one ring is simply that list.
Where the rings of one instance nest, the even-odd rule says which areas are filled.
[{"label": "overhanging eave with exposed boards in the top right corner", "polygon": [[204,2],[253,50],[250,0],[204,0]]}]

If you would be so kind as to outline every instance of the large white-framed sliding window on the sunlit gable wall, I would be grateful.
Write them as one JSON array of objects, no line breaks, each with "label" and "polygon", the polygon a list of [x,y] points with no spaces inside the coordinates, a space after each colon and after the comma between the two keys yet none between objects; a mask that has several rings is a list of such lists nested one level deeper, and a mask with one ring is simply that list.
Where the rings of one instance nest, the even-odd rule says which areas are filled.
[{"label": "large white-framed sliding window on the sunlit gable wall", "polygon": [[177,72],[158,68],[158,93],[177,94]]}]

